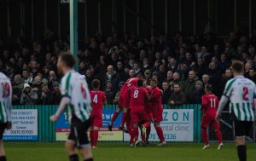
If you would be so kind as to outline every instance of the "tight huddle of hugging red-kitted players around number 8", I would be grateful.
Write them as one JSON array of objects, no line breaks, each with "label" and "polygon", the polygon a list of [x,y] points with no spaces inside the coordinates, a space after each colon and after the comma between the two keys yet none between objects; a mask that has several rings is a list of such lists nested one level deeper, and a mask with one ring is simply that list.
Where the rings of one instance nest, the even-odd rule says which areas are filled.
[{"label": "tight huddle of hugging red-kitted players around number 8", "polygon": [[[138,127],[141,129],[142,143],[148,144],[150,123],[154,122],[154,128],[160,138],[159,146],[166,145],[160,122],[163,120],[163,106],[161,103],[162,91],[157,87],[157,80],[151,79],[150,86],[143,80],[142,74],[137,78],[128,79],[123,85],[119,95],[119,107],[113,113],[113,118],[108,126],[111,131],[113,122],[123,110],[123,117],[119,129],[123,129],[131,136],[130,147],[138,146]],[[126,128],[124,127],[126,123]]]}]

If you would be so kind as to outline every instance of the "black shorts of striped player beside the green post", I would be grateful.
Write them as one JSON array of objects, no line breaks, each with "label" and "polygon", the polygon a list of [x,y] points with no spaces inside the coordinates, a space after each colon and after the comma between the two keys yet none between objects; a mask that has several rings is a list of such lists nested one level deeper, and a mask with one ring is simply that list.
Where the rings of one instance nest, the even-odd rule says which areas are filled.
[{"label": "black shorts of striped player beside the green post", "polygon": [[67,138],[67,141],[73,141],[76,147],[89,147],[89,140],[87,130],[90,127],[90,119],[82,123],[79,118],[72,117],[71,119],[71,131]]}]

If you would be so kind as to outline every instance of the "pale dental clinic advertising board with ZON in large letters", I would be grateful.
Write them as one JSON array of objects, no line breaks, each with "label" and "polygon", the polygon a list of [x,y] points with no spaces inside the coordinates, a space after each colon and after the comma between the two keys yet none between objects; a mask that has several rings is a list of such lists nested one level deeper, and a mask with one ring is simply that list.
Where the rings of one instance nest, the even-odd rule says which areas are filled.
[{"label": "pale dental clinic advertising board with ZON in large letters", "polygon": [[[193,141],[194,109],[165,109],[160,126],[166,141]],[[129,135],[125,134],[125,141],[130,141]],[[153,123],[149,141],[159,141]]]}]

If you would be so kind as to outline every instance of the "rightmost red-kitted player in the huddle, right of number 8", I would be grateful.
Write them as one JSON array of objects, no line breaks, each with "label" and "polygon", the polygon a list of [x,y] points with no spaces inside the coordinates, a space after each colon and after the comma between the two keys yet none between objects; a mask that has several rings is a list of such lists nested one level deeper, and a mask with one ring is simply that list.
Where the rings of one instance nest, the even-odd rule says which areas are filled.
[{"label": "rightmost red-kitted player in the huddle, right of number 8", "polygon": [[154,128],[160,138],[160,144],[158,144],[158,146],[164,146],[166,145],[166,141],[163,129],[160,127],[160,122],[163,121],[163,105],[161,101],[162,91],[157,87],[157,80],[154,78],[150,80],[150,86],[152,88],[150,101],[153,112]]}]

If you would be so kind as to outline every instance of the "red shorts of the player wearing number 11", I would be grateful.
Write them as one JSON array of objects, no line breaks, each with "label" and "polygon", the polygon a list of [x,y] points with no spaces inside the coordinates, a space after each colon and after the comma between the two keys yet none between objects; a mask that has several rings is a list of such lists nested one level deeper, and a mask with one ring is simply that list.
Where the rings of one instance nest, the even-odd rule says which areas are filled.
[{"label": "red shorts of the player wearing number 11", "polygon": [[213,129],[219,129],[219,122],[215,121],[215,115],[203,114],[201,118],[201,128],[207,129],[208,126],[212,126]]}]

